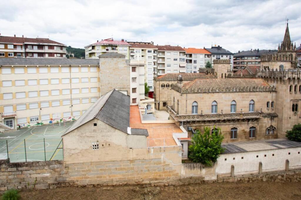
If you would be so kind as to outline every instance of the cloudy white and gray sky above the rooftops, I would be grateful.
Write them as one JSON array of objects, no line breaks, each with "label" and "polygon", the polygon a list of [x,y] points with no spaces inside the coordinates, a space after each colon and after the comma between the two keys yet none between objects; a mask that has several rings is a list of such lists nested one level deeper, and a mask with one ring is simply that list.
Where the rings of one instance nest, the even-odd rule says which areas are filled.
[{"label": "cloudy white and gray sky above the rooftops", "polygon": [[275,49],[285,18],[291,40],[301,43],[301,1],[0,1],[2,36],[46,37],[83,48],[96,40],[154,41],[231,52]]}]

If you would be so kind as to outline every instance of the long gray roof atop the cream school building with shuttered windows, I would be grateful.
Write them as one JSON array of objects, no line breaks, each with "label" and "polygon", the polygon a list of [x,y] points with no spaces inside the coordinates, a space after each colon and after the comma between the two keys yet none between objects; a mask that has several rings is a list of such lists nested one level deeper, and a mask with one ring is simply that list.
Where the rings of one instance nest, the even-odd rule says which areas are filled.
[{"label": "long gray roof atop the cream school building with shuttered windows", "polygon": [[68,58],[0,58],[2,65],[98,65],[99,59]]}]

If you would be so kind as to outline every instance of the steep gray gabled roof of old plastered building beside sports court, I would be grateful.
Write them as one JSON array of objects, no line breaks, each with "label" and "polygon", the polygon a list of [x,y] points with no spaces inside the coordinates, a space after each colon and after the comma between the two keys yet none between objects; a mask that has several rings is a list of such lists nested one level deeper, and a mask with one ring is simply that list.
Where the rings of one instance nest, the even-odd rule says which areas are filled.
[{"label": "steep gray gabled roof of old plastered building beside sports court", "polygon": [[[115,89],[107,92],[76,120],[64,135],[94,118],[124,133],[128,133],[127,128],[130,125],[130,97]],[[131,134],[148,136],[146,129],[131,129]]]}]

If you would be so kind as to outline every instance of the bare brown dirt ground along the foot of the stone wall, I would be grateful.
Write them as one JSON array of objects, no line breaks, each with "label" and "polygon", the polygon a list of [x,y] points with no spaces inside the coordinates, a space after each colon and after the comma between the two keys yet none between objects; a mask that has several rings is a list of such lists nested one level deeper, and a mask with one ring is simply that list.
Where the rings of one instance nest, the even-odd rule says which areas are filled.
[{"label": "bare brown dirt ground along the foot of the stone wall", "polygon": [[20,192],[22,199],[301,199],[301,182],[213,183],[182,186],[64,187]]}]

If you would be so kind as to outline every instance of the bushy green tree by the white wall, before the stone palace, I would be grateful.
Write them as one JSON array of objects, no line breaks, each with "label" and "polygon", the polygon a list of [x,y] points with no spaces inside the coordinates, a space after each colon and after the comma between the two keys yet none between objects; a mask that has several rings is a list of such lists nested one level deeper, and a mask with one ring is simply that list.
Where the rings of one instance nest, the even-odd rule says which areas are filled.
[{"label": "bushy green tree by the white wall, before the stone palace", "polygon": [[189,159],[195,163],[202,163],[206,166],[212,166],[216,162],[219,154],[224,149],[222,148],[222,141],[224,136],[221,134],[220,128],[213,128],[214,133],[210,134],[209,127],[204,127],[204,133],[196,130],[192,137],[192,145],[189,146]]}]

